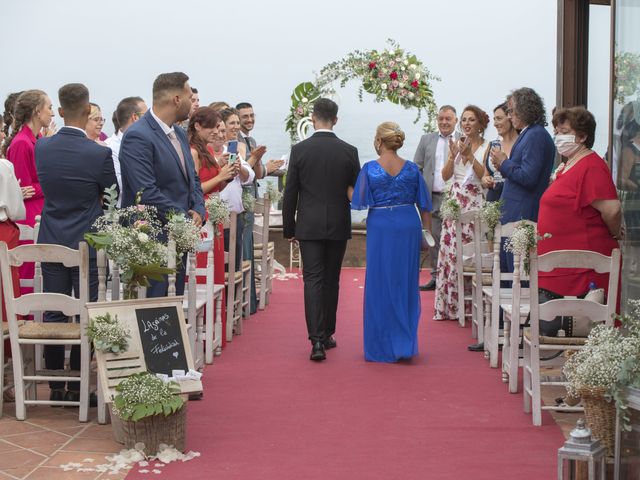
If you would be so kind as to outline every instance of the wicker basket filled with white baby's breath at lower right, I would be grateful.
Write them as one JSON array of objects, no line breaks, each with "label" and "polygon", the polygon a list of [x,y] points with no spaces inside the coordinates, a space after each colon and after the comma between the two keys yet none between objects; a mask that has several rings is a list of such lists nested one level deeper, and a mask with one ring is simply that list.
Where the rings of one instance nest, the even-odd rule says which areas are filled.
[{"label": "wicker basket filled with white baby's breath at lower right", "polygon": [[587,423],[613,454],[616,406],[629,429],[626,387],[640,386],[640,301],[629,301],[630,314],[618,316],[623,328],[596,325],[583,349],[571,355],[563,372],[567,392],[582,398]]}]

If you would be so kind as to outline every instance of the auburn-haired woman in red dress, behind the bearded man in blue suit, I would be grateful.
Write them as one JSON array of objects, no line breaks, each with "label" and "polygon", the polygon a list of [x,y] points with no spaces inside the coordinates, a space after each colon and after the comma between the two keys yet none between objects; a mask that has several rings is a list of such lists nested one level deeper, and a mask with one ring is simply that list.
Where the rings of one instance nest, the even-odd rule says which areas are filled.
[{"label": "auburn-haired woman in red dress, behind the bearded man in blue suit", "polygon": [[[191,155],[196,164],[196,171],[200,176],[202,191],[205,200],[210,194],[220,192],[227,182],[233,180],[233,165],[225,164],[220,166],[213,155],[213,148],[209,146],[218,137],[218,125],[220,115],[209,107],[201,107],[196,110],[189,120],[187,136],[191,145]],[[224,240],[222,237],[222,225],[218,225],[218,232],[214,238],[213,247],[213,270],[214,282],[224,285]],[[206,255],[199,254],[197,258],[198,266],[205,266]],[[226,308],[223,301],[222,307],[222,346],[226,345]]]}]

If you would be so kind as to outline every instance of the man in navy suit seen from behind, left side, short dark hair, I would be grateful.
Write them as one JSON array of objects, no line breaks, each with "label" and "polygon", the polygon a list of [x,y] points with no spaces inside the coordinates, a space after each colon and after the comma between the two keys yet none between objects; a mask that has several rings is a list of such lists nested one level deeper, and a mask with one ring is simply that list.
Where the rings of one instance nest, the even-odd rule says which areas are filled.
[{"label": "man in navy suit seen from behind, left side, short dark hair", "polygon": [[[64,85],[58,91],[64,127],[48,138],[36,143],[35,160],[40,186],[44,194],[44,208],[40,222],[38,243],[53,243],[77,249],[85,232],[102,215],[102,194],[116,184],[111,150],[87,138],[84,127],[89,118],[89,90],[80,83]],[[43,290],[45,292],[79,297],[78,268],[61,263],[43,263]],[[98,273],[95,250],[89,256],[89,298],[98,299]],[[45,312],[45,322],[66,322],[62,312]],[[64,368],[64,346],[44,347],[47,369]],[[71,369],[80,369],[80,349],[71,350]],[[69,382],[49,382],[51,400],[78,401],[80,386]],[[95,397],[92,398],[92,403]]]}]

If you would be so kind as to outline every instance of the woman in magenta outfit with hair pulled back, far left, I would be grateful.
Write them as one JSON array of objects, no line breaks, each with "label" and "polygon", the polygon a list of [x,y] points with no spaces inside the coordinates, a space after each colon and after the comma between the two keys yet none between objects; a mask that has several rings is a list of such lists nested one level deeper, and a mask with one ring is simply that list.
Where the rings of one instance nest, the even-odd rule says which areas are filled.
[{"label": "woman in magenta outfit with hair pulled back, far left", "polygon": [[[6,139],[2,152],[13,163],[16,178],[24,191],[26,218],[18,223],[33,227],[42,212],[44,196],[36,171],[35,145],[43,128],[51,124],[53,109],[49,96],[42,90],[26,90],[16,100],[14,129]],[[31,243],[31,242],[21,242]],[[33,278],[33,263],[20,267],[20,278]],[[23,291],[23,293],[28,293]]]}]

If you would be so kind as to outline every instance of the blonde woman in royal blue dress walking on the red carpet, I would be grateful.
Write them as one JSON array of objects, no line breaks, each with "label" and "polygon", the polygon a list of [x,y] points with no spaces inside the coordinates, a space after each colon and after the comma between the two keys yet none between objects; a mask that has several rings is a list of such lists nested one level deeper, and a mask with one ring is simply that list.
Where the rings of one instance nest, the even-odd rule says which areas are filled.
[{"label": "blonde woman in royal blue dress walking on the red carpet", "polygon": [[378,126],[379,158],[362,167],[351,201],[353,209],[369,209],[364,356],[372,362],[418,353],[420,248],[423,228],[431,229],[431,199],[417,165],[398,156],[403,143],[398,124]]}]

